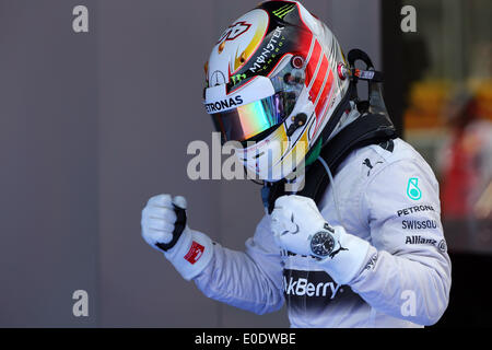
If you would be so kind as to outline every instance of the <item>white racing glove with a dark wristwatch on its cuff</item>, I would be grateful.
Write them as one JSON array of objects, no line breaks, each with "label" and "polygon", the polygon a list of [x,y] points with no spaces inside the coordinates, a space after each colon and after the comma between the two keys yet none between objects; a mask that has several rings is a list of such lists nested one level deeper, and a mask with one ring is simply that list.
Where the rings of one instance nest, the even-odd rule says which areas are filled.
[{"label": "white racing glove with a dark wristwatch on its cuff", "polygon": [[340,284],[348,284],[362,270],[370,244],[330,226],[313,199],[282,196],[271,213],[271,229],[279,246],[289,252],[313,256],[320,268]]}]

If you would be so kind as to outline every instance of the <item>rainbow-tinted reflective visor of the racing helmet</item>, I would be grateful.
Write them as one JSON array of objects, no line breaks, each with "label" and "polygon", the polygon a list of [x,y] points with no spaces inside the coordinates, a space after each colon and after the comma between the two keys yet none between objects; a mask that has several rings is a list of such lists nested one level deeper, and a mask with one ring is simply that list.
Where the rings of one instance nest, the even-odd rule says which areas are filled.
[{"label": "rainbow-tinted reflective visor of the racing helmet", "polygon": [[286,117],[285,96],[272,96],[248,103],[237,108],[212,114],[215,129],[225,141],[246,141],[280,125]]}]

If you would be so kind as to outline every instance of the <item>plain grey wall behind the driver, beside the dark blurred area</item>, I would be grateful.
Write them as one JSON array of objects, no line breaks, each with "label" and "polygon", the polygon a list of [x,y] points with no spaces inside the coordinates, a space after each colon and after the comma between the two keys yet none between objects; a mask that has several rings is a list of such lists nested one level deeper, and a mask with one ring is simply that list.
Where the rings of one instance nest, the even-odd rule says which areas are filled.
[{"label": "plain grey wall behind the driver, beside the dark blurred area", "polygon": [[[345,52],[380,67],[379,0],[305,0]],[[208,300],[140,236],[148,198],[243,249],[262,215],[250,182],[187,178],[211,144],[203,63],[253,1],[0,0],[0,327],[285,327]],[[89,33],[72,10],[89,9]],[[72,293],[89,293],[74,317]]]}]

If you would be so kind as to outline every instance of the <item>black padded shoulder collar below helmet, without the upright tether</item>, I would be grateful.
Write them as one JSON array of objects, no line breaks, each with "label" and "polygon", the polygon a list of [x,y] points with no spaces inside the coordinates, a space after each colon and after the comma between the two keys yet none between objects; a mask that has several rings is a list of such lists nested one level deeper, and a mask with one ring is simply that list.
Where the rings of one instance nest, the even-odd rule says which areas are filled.
[{"label": "black padded shoulder collar below helmet, without the upright tether", "polygon": [[[329,140],[319,156],[326,161],[335,175],[338,166],[352,151],[370,144],[385,144],[395,138],[395,127],[386,114],[365,114]],[[312,198],[318,205],[329,185],[326,170],[316,161],[306,168],[305,176],[304,188],[296,195]],[[282,179],[263,187],[263,202],[268,206],[269,213],[272,212],[277,198],[291,194],[284,190],[284,185],[285,180]]]}]

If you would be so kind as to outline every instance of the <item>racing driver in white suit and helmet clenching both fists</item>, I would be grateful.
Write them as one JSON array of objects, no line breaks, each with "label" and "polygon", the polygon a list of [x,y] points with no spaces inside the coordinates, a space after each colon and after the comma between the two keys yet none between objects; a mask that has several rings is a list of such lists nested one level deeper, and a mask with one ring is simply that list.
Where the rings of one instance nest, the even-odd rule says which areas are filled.
[{"label": "racing driver in white suit and helmet clenching both fists", "polygon": [[450,288],[438,184],[396,136],[370,57],[345,57],[297,1],[268,1],[223,32],[206,75],[206,110],[262,182],[266,214],[236,252],[159,195],[145,242],[209,298],[257,314],[285,302],[292,327],[435,324]]}]

